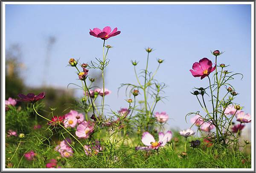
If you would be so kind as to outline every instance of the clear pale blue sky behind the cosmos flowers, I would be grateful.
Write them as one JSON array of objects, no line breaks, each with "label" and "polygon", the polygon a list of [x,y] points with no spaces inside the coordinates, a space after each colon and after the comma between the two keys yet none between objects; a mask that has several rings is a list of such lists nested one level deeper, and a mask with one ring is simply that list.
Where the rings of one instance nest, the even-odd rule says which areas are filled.
[{"label": "clear pale blue sky behind the cosmos flowers", "polygon": [[[232,82],[240,93],[236,102],[251,110],[251,17],[250,5],[7,5],[6,47],[22,46],[22,61],[27,66],[23,76],[29,86],[40,86],[44,76],[47,37],[57,38],[52,48],[47,85],[66,87],[76,80],[76,71],[65,67],[70,58],[89,62],[102,58],[102,40],[89,35],[89,29],[117,27],[121,34],[107,40],[114,46],[108,58],[106,97],[111,109],[128,106],[121,83],[135,83],[131,60],[145,68],[145,47],[155,49],[150,55],[149,70],[154,71],[157,58],[164,59],[156,78],[167,84],[169,101],[156,111],[166,111],[169,127],[180,129],[188,112],[200,110],[194,86],[207,86],[208,80],[194,78],[189,69],[201,58],[214,61],[210,50],[225,51],[218,63],[230,64],[228,70],[244,75]],[[212,77],[212,75],[211,75]],[[78,95],[81,95],[81,93]],[[143,98],[140,95],[139,98]],[[250,125],[250,124],[248,124]]]}]

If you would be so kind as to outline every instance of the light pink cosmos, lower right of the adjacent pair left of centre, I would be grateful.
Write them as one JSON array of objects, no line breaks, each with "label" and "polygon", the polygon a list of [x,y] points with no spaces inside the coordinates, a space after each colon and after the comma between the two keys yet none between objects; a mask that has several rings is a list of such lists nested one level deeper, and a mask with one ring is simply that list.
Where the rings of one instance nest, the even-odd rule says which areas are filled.
[{"label": "light pink cosmos, lower right of the adjacent pair left of centre", "polygon": [[90,121],[83,121],[76,127],[76,136],[79,138],[89,138],[90,134],[93,133],[94,124]]}]

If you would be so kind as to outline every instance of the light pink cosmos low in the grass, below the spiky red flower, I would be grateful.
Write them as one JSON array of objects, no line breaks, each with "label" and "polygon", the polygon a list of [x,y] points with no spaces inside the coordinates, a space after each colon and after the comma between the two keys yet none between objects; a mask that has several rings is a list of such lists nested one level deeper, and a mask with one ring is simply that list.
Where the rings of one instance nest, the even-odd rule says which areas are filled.
[{"label": "light pink cosmos low in the grass, below the spiky red flower", "polygon": [[55,151],[58,151],[62,157],[73,156],[74,152],[68,143],[71,144],[71,140],[69,138],[67,138],[67,141],[61,141],[60,144],[55,147]]}]

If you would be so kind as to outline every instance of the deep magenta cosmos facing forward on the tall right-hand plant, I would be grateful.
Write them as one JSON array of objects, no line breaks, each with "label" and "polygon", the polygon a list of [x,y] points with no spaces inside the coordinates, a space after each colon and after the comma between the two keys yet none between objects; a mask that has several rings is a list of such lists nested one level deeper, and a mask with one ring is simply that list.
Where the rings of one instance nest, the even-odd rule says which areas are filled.
[{"label": "deep magenta cosmos facing forward on the tall right-hand plant", "polygon": [[211,72],[215,70],[215,67],[212,67],[212,61],[208,58],[203,58],[198,62],[193,63],[192,69],[189,71],[194,77],[201,77],[201,79],[208,76]]}]

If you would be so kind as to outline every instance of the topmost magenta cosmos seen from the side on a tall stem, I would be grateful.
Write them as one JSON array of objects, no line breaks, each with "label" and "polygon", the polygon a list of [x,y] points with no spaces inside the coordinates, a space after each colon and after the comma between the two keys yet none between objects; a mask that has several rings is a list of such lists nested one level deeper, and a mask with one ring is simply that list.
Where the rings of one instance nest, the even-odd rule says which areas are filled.
[{"label": "topmost magenta cosmos seen from the side on a tall stem", "polygon": [[113,31],[111,32],[111,27],[106,26],[102,30],[99,28],[93,28],[93,30],[90,29],[89,33],[94,37],[101,38],[102,40],[107,40],[110,37],[119,35],[121,31],[117,31],[117,28],[114,28]]}]

